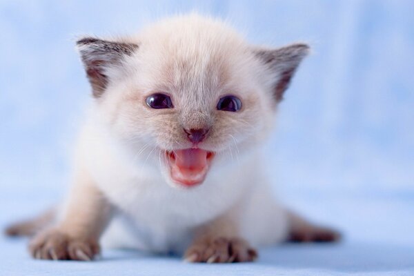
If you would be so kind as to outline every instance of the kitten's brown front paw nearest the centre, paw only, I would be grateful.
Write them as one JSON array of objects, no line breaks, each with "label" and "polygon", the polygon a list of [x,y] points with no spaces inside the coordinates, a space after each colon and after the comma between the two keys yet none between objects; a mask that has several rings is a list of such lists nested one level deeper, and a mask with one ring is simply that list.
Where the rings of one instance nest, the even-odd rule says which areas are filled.
[{"label": "kitten's brown front paw nearest the centre, paw only", "polygon": [[184,259],[207,263],[253,262],[257,251],[244,239],[219,237],[195,242],[187,249]]}]

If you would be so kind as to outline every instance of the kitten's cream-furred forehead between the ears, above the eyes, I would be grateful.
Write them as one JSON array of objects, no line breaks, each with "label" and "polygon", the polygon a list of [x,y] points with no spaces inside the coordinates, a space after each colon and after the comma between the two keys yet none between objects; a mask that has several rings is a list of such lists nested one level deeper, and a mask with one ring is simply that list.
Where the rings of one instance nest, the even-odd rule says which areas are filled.
[{"label": "kitten's cream-furred forehead between the ears, above the eyes", "polygon": [[234,37],[183,32],[145,42],[139,56],[148,88],[206,101],[232,92],[248,77],[246,46]]}]

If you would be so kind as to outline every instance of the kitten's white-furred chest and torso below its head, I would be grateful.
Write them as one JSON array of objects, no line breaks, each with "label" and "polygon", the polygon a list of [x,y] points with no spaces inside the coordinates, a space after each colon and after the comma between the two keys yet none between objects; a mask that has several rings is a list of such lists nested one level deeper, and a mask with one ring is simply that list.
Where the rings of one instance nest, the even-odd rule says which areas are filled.
[{"label": "kitten's white-furred chest and torso below its head", "polygon": [[[182,253],[195,228],[227,213],[229,220],[239,221],[242,237],[255,246],[286,239],[288,218],[272,197],[260,168],[258,148],[248,157],[233,152],[231,164],[226,159],[215,160],[207,179],[197,188],[174,189],[152,164],[164,157],[153,148],[143,150],[139,157],[128,156],[100,124],[95,118],[84,128],[77,163],[87,168],[121,211],[122,219],[109,227],[104,243]],[[124,236],[125,232],[129,235]]]}]

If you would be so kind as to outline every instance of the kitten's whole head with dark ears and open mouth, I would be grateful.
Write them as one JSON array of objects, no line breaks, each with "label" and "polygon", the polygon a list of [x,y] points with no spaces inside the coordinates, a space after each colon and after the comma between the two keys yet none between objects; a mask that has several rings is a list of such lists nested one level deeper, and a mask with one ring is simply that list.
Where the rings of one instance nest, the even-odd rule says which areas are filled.
[{"label": "kitten's whole head with dark ears and open mouth", "polygon": [[110,132],[168,183],[186,187],[201,184],[211,166],[237,164],[266,137],[308,53],[305,44],[250,46],[197,15],[77,47]]}]

